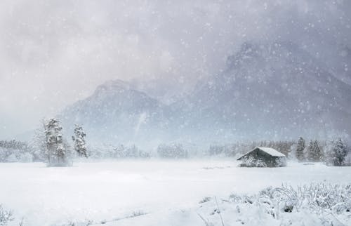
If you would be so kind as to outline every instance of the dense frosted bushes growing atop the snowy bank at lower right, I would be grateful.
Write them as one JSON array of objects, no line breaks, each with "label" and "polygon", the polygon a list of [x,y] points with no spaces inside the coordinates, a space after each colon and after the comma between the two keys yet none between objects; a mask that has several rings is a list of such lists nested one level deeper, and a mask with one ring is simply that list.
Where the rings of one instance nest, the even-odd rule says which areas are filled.
[{"label": "dense frosted bushes growing atop the snowy bank at lower right", "polygon": [[[249,200],[249,201],[248,201]],[[239,203],[255,203],[266,209],[274,217],[280,211],[284,213],[308,210],[310,213],[350,213],[351,185],[331,185],[317,183],[302,187],[268,187],[252,197],[232,195],[230,201]]]}]

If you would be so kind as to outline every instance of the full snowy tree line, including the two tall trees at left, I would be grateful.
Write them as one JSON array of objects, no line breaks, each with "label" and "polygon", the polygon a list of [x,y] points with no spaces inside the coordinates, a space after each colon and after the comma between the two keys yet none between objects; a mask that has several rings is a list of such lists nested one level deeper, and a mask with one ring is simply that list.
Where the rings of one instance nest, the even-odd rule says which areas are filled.
[{"label": "full snowy tree line, including the two tall trees at left", "polygon": [[45,161],[48,166],[68,166],[74,156],[92,159],[121,158],[190,158],[220,156],[237,158],[254,147],[272,147],[289,159],[298,161],[322,161],[329,166],[351,165],[350,146],[342,139],[320,141],[304,138],[298,140],[262,140],[235,142],[227,145],[209,145],[208,149],[179,142],[161,143],[154,151],[145,152],[135,145],[86,146],[86,133],[79,125],[74,126],[71,142],[62,135],[59,119],[43,121],[32,142],[17,140],[0,141],[0,161]]}]

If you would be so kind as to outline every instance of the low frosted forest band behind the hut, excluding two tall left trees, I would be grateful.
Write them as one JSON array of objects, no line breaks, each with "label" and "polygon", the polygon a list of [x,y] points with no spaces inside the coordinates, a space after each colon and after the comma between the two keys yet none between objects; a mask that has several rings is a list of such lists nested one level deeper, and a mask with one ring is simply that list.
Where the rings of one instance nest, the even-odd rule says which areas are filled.
[{"label": "low frosted forest band behind the hut, excluding two tall left trees", "polygon": [[[197,145],[183,145],[173,142],[160,144],[150,151],[135,145],[87,146],[89,159],[147,159],[166,158],[184,159],[194,157],[237,157],[249,152],[254,147],[272,147],[296,161],[325,162],[331,166],[351,164],[350,145],[341,139],[326,140],[279,140],[234,142],[226,145],[213,144],[201,149]],[[68,146],[72,149],[72,147]],[[0,140],[0,162],[46,161],[45,146],[36,142],[27,143],[18,140]]]}]

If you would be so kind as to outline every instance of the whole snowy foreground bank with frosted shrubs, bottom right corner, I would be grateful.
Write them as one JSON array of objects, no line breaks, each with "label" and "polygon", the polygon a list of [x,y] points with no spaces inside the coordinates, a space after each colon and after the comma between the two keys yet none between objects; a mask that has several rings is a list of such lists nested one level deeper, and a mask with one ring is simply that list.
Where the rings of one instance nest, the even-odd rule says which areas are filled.
[{"label": "whole snowy foreground bank with frosted shrubs, bottom right corner", "polygon": [[282,185],[199,205],[197,213],[212,225],[223,225],[222,216],[225,225],[349,225],[351,184]]}]

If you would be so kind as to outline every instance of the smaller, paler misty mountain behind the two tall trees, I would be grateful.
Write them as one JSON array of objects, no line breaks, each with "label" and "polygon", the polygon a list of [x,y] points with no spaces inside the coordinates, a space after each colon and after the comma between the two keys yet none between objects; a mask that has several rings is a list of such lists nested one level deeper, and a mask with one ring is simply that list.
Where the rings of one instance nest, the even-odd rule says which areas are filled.
[{"label": "smaller, paler misty mountain behind the two tall trees", "polygon": [[93,95],[67,107],[59,117],[65,128],[83,125],[93,140],[147,140],[147,131],[159,128],[161,120],[153,119],[162,119],[164,108],[146,93],[117,80],[98,86]]}]

